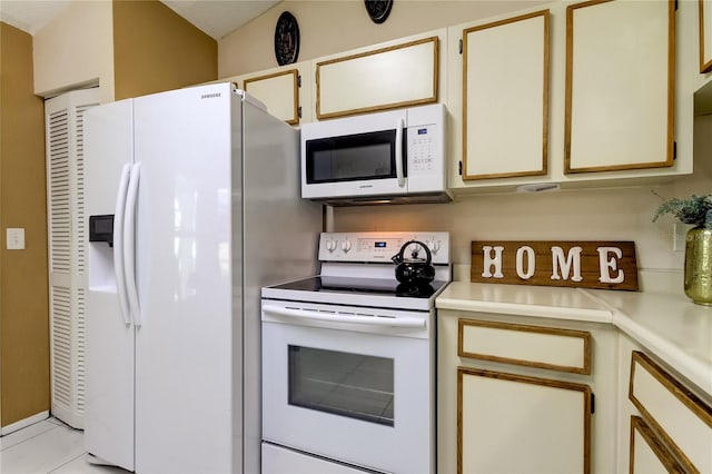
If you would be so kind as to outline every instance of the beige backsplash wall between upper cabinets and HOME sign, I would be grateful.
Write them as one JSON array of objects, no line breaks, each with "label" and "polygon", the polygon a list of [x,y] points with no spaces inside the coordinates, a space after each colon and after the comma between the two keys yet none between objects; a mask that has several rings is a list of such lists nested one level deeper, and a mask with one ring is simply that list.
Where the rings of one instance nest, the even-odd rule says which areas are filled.
[{"label": "beige backsplash wall between upper cabinets and HOME sign", "polygon": [[661,197],[709,191],[709,175],[700,169],[694,178],[655,187],[483,195],[443,205],[336,208],[334,230],[448,230],[456,266],[469,265],[472,240],[634,240],[641,270],[680,270],[684,253],[672,249],[673,220],[653,223],[654,211]]}]

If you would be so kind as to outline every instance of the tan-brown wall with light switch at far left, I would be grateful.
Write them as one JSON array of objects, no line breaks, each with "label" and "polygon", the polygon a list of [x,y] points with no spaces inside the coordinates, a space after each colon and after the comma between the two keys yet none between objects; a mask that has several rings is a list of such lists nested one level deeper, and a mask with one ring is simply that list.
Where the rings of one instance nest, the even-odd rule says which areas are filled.
[{"label": "tan-brown wall with light switch at far left", "polygon": [[[32,37],[0,23],[0,426],[49,411],[43,103]],[[31,137],[31,138],[28,138]],[[6,249],[24,228],[26,249]]]}]

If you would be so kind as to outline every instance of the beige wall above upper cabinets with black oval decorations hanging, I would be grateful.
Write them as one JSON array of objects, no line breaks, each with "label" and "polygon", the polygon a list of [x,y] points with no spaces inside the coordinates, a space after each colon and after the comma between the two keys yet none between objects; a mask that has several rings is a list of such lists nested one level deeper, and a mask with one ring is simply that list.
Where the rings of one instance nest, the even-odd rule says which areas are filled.
[{"label": "beige wall above upper cabinets with black oval decorations hanging", "polygon": [[545,3],[540,0],[396,0],[388,19],[374,23],[360,0],[286,0],[219,40],[219,78],[274,68],[275,24],[283,11],[299,23],[306,61],[363,46],[490,18]]}]

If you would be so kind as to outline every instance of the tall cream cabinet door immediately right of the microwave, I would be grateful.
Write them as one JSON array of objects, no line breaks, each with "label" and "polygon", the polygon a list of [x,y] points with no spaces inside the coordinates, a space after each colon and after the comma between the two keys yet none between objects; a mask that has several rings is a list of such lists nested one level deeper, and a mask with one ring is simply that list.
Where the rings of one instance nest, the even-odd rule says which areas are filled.
[{"label": "tall cream cabinet door immediately right of the microwave", "polygon": [[463,180],[546,174],[548,19],[463,31]]}]

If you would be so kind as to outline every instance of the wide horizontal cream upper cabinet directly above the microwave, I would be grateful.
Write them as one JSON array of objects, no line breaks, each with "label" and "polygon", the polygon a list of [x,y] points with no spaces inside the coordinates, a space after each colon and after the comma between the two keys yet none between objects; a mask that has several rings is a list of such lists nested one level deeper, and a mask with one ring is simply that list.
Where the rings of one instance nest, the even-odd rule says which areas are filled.
[{"label": "wide horizontal cream upper cabinet directly above the microwave", "polygon": [[445,30],[319,58],[316,119],[438,102]]}]

